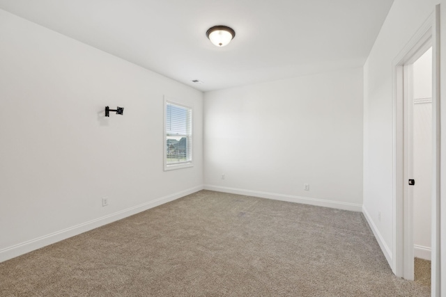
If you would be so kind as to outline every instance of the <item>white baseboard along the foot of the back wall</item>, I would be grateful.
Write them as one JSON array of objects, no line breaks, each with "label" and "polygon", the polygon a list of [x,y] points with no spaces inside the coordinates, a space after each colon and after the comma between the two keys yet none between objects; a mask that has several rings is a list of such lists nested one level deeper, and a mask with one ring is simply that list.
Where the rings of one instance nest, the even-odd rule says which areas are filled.
[{"label": "white baseboard along the foot of the back wall", "polygon": [[242,188],[228,188],[226,186],[213,186],[210,184],[205,184],[204,188],[205,188],[205,190],[210,190],[210,191],[232,193],[232,194],[238,194],[238,195],[247,195],[247,196],[254,196],[254,197],[259,197],[259,198],[268,198],[268,199],[272,199],[272,200],[297,202],[297,203],[302,203],[302,204],[316,205],[319,207],[330,207],[330,208],[345,209],[345,210],[350,210],[350,211],[361,211],[362,210],[361,204],[348,203],[348,202],[338,202],[338,201],[323,200],[323,199],[316,199],[316,198],[300,197],[300,196],[294,196],[294,195],[284,195],[284,194],[277,194],[277,193],[252,191],[252,190],[245,190]]}]

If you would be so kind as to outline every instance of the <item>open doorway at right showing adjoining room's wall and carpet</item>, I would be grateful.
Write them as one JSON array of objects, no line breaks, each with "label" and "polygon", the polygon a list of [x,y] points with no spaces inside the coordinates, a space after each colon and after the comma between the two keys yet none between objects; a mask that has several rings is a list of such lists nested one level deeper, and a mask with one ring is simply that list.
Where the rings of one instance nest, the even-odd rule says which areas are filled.
[{"label": "open doorway at right showing adjoining room's wall and carpet", "polygon": [[[429,45],[429,43],[427,44]],[[432,193],[432,47],[418,51],[413,63],[404,65],[408,131],[406,160],[409,179],[407,202],[412,202],[414,275],[410,279],[430,284]],[[410,214],[409,214],[410,215]],[[412,270],[410,268],[410,270]],[[411,275],[410,275],[411,276]]]}]

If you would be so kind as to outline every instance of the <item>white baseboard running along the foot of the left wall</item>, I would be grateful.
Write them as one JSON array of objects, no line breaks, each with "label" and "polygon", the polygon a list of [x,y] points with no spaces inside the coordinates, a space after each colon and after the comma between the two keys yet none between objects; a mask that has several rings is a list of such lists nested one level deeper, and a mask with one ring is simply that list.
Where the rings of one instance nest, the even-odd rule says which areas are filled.
[{"label": "white baseboard running along the foot of the left wall", "polygon": [[90,220],[88,222],[75,225],[64,230],[60,230],[54,232],[52,234],[47,234],[45,236],[40,236],[36,239],[32,239],[30,241],[25,241],[23,243],[19,243],[15,246],[10,246],[8,248],[3,248],[0,250],[0,262],[6,261],[8,259],[12,259],[14,257],[26,254],[26,252],[31,252],[33,250],[37,250],[39,248],[43,248],[44,246],[49,246],[52,243],[56,243],[57,241],[62,241],[64,239],[68,239],[72,236],[87,232],[89,230],[93,230],[97,227],[107,225],[109,223],[113,223],[116,220],[121,220],[128,216],[133,216],[134,214],[138,214],[141,211],[146,211],[147,209],[151,209],[153,207],[157,207],[161,204],[171,202],[178,198],[184,197],[185,195],[190,195],[192,193],[203,190],[203,185],[196,186],[194,188],[188,188],[187,190],[180,191],[177,193],[173,193],[171,195],[164,196],[162,198],[158,198],[143,204],[139,204],[134,207],[130,207],[128,209],[123,209],[122,211],[117,211],[114,214],[109,214],[107,216],[102,216],[100,218],[96,218],[94,220]]}]

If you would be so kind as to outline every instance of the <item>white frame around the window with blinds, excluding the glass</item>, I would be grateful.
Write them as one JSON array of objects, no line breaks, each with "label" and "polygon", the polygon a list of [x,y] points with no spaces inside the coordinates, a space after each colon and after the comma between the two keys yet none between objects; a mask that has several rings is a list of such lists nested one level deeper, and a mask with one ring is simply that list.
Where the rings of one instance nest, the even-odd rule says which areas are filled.
[{"label": "white frame around the window with blinds, excluding the glass", "polygon": [[[190,152],[190,160],[187,160],[187,161],[179,161],[179,162],[176,162],[176,163],[167,163],[167,125],[166,125],[166,121],[167,121],[167,104],[173,104],[173,105],[176,105],[176,106],[180,106],[180,107],[183,107],[183,108],[185,108],[185,109],[190,109],[190,125],[191,125],[191,127],[190,127],[190,129],[191,129],[191,132],[190,132],[190,150],[191,150],[191,152]],[[163,127],[164,127],[164,131],[163,131],[163,141],[162,141],[162,144],[163,144],[163,147],[162,147],[162,150],[163,150],[163,154],[164,154],[164,171],[167,171],[167,170],[175,170],[175,169],[180,169],[180,168],[189,168],[189,167],[192,167],[192,166],[194,166],[194,163],[193,163],[193,160],[194,160],[194,156],[193,156],[193,154],[194,154],[194,149],[193,149],[193,146],[194,146],[194,139],[193,139],[193,131],[194,131],[194,108],[193,108],[193,106],[187,106],[187,105],[185,105],[185,104],[181,104],[181,103],[178,103],[178,102],[176,102],[175,100],[173,100],[173,99],[171,99],[171,98],[169,98],[169,97],[164,97],[164,123],[163,123]]]}]

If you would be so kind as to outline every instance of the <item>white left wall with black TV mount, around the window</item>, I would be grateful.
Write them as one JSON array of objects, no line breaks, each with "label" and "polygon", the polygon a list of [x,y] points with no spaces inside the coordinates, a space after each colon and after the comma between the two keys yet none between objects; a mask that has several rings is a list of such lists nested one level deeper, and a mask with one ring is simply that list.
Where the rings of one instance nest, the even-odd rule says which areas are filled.
[{"label": "white left wall with black TV mount, around the window", "polygon": [[[193,168],[163,170],[164,95],[194,106]],[[203,188],[202,108],[198,90],[0,10],[0,261]]]}]

